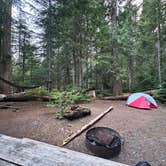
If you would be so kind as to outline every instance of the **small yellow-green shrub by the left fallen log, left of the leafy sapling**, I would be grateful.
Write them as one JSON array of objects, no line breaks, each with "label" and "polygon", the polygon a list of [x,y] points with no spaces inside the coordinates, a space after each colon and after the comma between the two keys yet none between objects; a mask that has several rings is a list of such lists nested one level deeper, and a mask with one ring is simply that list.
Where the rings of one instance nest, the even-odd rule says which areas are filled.
[{"label": "small yellow-green shrub by the left fallen log, left of the leafy sapling", "polygon": [[30,95],[35,95],[35,96],[49,96],[48,90],[42,86],[27,90],[26,93]]}]

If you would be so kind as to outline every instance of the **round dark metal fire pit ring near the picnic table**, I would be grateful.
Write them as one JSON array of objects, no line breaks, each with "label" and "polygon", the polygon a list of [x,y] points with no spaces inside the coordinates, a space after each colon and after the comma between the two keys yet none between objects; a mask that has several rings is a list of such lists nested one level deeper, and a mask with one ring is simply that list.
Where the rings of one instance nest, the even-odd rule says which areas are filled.
[{"label": "round dark metal fire pit ring near the picnic table", "polygon": [[99,157],[112,158],[121,151],[120,135],[111,128],[95,127],[86,133],[86,146]]}]

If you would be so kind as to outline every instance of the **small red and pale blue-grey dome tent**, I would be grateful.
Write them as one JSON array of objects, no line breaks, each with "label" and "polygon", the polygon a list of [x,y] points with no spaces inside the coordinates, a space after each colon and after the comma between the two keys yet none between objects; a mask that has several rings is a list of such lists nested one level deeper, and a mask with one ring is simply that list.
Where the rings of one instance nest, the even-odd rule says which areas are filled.
[{"label": "small red and pale blue-grey dome tent", "polygon": [[142,108],[142,109],[151,109],[158,107],[153,97],[145,93],[131,94],[128,97],[126,104],[131,107]]}]

